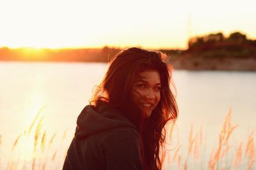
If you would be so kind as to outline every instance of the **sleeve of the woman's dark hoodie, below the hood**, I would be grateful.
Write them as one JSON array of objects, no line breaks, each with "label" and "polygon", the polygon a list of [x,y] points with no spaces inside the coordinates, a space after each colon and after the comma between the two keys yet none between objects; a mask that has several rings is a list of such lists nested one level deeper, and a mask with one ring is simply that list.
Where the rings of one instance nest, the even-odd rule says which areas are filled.
[{"label": "sleeve of the woman's dark hoodie, below the hood", "polygon": [[102,141],[108,170],[142,170],[141,142],[134,131],[118,131]]}]

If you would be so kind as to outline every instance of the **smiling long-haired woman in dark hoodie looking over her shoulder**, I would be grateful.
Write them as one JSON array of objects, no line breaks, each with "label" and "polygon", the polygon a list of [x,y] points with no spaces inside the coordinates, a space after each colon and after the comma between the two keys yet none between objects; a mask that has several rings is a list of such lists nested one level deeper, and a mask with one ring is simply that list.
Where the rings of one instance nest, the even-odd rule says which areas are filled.
[{"label": "smiling long-haired woman in dark hoodie looking over her shoulder", "polygon": [[77,118],[63,169],[161,169],[164,125],[178,114],[165,58],[140,48],[116,55]]}]

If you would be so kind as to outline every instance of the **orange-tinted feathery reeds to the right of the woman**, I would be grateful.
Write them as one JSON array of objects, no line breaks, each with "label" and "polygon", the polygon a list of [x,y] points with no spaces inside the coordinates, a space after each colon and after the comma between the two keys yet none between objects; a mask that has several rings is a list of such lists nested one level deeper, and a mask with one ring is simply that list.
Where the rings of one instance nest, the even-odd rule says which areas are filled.
[{"label": "orange-tinted feathery reeds to the right of the woman", "polygon": [[[218,145],[212,149],[211,155],[204,155],[206,148],[203,143],[206,141],[203,140],[202,126],[198,132],[195,132],[191,125],[187,147],[182,143],[170,153],[168,169],[255,169],[254,133],[248,136],[246,146],[243,147],[243,141],[230,145],[230,138],[237,128],[237,125],[232,124],[231,118],[230,109],[218,135]],[[188,148],[187,152],[184,152],[184,148]],[[207,157],[209,157],[208,161]]]}]

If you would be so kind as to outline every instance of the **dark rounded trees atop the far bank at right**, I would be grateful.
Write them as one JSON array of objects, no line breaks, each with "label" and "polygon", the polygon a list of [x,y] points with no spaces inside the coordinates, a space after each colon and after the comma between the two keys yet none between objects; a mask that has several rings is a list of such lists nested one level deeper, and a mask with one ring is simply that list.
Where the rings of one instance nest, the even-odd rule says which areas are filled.
[{"label": "dark rounded trees atop the far bank at right", "polygon": [[256,59],[256,40],[247,39],[241,32],[232,32],[228,37],[218,32],[189,39],[186,52],[194,57],[201,55]]}]

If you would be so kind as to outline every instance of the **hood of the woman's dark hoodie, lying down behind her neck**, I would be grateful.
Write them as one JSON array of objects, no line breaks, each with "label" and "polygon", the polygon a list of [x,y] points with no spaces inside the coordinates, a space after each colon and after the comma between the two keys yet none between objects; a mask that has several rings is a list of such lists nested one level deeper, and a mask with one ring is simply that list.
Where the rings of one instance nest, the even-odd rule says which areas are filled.
[{"label": "hood of the woman's dark hoodie, lying down behind her neck", "polygon": [[77,139],[86,138],[92,134],[120,127],[136,126],[120,113],[120,111],[106,103],[99,103],[99,106],[86,106],[77,118],[75,136]]}]

